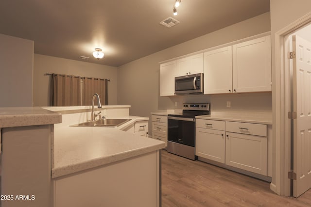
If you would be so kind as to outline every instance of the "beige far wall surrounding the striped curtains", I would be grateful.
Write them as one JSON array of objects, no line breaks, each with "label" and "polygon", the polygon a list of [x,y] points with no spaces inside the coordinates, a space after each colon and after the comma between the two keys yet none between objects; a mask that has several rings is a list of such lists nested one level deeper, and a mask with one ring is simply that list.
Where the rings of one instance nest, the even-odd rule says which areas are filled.
[{"label": "beige far wall surrounding the striped curtains", "polygon": [[117,105],[118,69],[116,67],[35,54],[34,106],[50,106],[51,76],[46,76],[46,73],[110,79],[108,105]]}]

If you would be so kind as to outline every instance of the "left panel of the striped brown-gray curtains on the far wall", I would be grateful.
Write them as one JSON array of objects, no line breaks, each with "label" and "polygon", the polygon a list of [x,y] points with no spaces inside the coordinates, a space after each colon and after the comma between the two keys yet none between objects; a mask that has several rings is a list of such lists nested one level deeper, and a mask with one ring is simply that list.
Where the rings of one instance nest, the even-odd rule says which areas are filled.
[{"label": "left panel of the striped brown-gray curtains on the far wall", "polygon": [[81,78],[52,74],[52,106],[81,106]]}]

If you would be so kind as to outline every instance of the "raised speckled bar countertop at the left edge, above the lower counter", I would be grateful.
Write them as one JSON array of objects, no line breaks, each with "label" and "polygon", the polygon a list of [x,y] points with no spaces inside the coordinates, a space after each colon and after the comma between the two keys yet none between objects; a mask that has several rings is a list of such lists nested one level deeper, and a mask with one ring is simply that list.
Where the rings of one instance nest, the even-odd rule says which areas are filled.
[{"label": "raised speckled bar countertop at the left edge, above the lower counter", "polygon": [[1,107],[0,128],[49,125],[62,122],[60,113],[40,107]]}]

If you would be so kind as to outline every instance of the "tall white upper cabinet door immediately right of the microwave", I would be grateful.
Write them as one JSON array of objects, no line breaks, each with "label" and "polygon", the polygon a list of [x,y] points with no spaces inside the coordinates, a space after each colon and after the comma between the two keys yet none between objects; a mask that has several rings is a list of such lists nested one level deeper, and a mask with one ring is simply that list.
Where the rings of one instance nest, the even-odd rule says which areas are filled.
[{"label": "tall white upper cabinet door immediately right of the microwave", "polygon": [[204,53],[204,93],[232,93],[232,47]]}]

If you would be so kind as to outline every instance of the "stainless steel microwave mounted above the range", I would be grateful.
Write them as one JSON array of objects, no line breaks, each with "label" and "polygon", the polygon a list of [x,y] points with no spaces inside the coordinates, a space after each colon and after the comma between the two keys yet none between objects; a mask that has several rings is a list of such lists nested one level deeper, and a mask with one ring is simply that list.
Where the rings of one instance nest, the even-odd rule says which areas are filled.
[{"label": "stainless steel microwave mounted above the range", "polygon": [[203,94],[203,73],[175,77],[175,94]]}]

